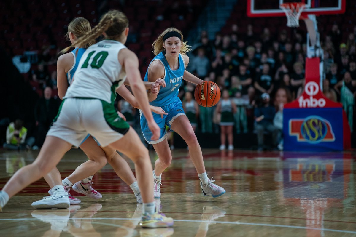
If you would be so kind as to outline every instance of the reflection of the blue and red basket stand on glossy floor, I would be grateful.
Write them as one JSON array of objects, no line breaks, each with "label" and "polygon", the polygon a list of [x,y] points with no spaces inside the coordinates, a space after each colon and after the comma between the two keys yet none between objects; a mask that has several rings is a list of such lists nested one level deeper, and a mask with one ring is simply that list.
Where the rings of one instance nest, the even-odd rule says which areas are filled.
[{"label": "reflection of the blue and red basket stand on glossy floor", "polygon": [[[348,154],[309,154],[284,157],[283,197],[305,213],[306,236],[325,236],[325,213],[334,208],[354,208],[352,158]],[[352,176],[352,177],[351,177]],[[350,188],[351,187],[351,188]],[[350,206],[351,205],[351,206]],[[335,209],[336,210],[336,209]]]}]

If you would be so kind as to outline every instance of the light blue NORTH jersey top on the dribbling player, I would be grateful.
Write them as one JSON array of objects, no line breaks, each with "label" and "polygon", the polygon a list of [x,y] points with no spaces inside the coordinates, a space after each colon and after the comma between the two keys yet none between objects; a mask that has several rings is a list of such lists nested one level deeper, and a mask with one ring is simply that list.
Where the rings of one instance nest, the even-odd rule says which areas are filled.
[{"label": "light blue NORTH jersey top on the dribbling player", "polygon": [[[155,60],[159,60],[163,64],[164,77],[162,79],[166,81],[166,87],[161,87],[158,92],[157,98],[150,103],[152,106],[163,107],[167,106],[168,104],[171,104],[178,97],[178,89],[183,81],[185,63],[182,55],[179,54],[179,68],[177,70],[171,70],[163,52],[159,53],[151,61],[152,63]],[[148,81],[148,70],[143,81]]]}]

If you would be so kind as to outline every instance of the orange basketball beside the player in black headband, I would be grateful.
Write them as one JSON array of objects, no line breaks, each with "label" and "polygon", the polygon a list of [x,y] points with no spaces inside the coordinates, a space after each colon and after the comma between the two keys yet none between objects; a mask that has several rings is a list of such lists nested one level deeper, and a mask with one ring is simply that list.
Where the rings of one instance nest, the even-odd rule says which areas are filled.
[{"label": "orange basketball beside the player in black headband", "polygon": [[195,87],[194,98],[203,107],[211,107],[219,102],[220,88],[212,81],[203,81]]}]

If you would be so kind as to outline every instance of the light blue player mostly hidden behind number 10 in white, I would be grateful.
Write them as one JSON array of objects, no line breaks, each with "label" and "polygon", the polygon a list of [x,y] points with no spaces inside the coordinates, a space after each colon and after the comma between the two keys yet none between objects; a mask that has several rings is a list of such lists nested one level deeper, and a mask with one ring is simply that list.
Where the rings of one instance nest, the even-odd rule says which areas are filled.
[{"label": "light blue player mostly hidden behind number 10 in white", "polygon": [[[90,31],[90,23],[83,17],[75,18],[68,25],[67,38],[70,42],[75,45],[75,41],[81,37],[86,32]],[[95,41],[89,42],[86,47],[94,44]],[[58,95],[62,99],[67,92],[68,87],[73,82],[74,72],[77,70],[80,58],[85,52],[86,48],[75,48],[72,52],[61,55],[58,58],[57,63],[57,86],[58,86]],[[162,82],[158,82],[161,85]],[[124,98],[127,98],[129,102],[135,104],[137,107],[137,102],[132,94],[126,88],[120,88],[120,93]],[[156,113],[163,113],[161,108],[152,107],[152,111]],[[117,175],[132,189],[133,193],[136,196],[137,203],[142,203],[142,197],[140,194],[140,189],[138,188],[137,181],[133,175],[130,166],[114,149],[109,147],[101,148],[96,144],[94,139],[88,135],[88,138],[83,141],[80,145],[85,154],[88,156],[89,161],[80,165],[75,171],[70,174],[67,178],[63,179],[62,184],[64,189],[67,191],[69,196],[69,201],[71,205],[79,204],[80,200],[74,198],[70,193],[70,187],[73,188],[75,192],[84,194],[93,199],[100,199],[102,195],[97,192],[91,185],[91,179],[93,175],[103,168],[106,165],[106,161],[114,168]],[[45,180],[51,187],[55,186],[56,181],[61,180],[61,174],[58,169],[55,167],[49,172],[45,177]],[[84,179],[83,179],[84,178]],[[78,182],[77,182],[78,181]],[[52,190],[49,191],[49,194],[52,195]],[[42,200],[35,201],[32,203],[34,208],[54,208],[61,206],[59,202],[50,201],[51,199],[46,196]]]}]

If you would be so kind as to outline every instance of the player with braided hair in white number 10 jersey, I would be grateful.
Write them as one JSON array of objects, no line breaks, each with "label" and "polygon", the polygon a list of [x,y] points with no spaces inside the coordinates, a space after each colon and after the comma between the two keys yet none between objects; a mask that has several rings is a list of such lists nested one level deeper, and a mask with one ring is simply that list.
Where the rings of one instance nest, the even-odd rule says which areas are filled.
[{"label": "player with braided hair in white number 10 jersey", "polygon": [[[152,165],[148,150],[137,133],[116,113],[112,97],[117,87],[130,80],[153,140],[159,138],[159,127],[149,109],[145,86],[138,70],[137,56],[124,45],[129,32],[127,17],[120,11],[109,11],[99,24],[76,42],[81,48],[104,33],[107,40],[89,47],[79,62],[73,84],[59,108],[36,160],[17,171],[0,191],[0,206],[10,197],[43,177],[72,146],[79,146],[87,134],[95,136],[102,147],[110,146],[135,163],[138,186],[143,199],[142,227],[167,227],[173,219],[155,212]],[[59,182],[53,187],[53,199],[69,199]]]}]

